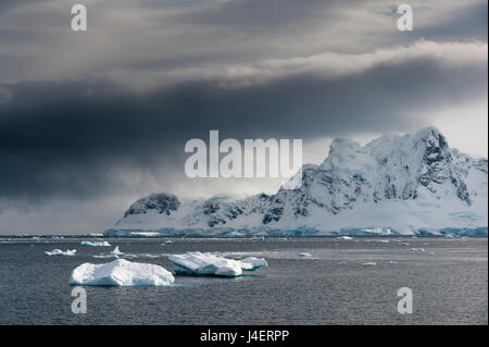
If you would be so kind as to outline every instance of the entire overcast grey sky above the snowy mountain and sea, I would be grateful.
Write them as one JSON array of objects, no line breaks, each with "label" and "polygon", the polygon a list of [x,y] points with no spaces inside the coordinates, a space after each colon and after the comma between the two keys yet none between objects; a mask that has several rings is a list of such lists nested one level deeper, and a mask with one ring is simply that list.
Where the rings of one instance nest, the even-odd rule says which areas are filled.
[{"label": "entire overcast grey sky above the snowy mountain and sea", "polygon": [[[136,199],[273,193],[187,178],[185,142],[301,138],[321,163],[435,125],[487,157],[486,0],[0,1],[0,234],[103,231]],[[397,7],[414,30],[397,29]]]}]

